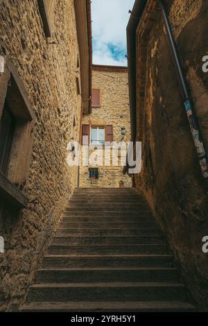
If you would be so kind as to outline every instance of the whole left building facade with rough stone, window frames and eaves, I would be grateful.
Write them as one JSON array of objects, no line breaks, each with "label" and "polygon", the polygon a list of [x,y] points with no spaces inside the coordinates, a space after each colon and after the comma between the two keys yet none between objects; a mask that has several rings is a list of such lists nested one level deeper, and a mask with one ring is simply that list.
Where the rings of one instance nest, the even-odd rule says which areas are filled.
[{"label": "whole left building facade with rough stone, window frames and eaves", "polygon": [[89,109],[90,23],[85,0],[0,3],[1,310],[23,300],[78,184],[67,144]]}]

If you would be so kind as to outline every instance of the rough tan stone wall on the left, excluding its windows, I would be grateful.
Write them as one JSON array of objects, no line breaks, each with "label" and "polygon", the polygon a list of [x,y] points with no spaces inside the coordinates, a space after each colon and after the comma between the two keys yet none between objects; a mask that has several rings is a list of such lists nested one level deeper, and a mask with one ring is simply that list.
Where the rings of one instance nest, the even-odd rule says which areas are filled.
[{"label": "rough tan stone wall on the left, excluding its windows", "polygon": [[10,207],[4,209],[0,221],[6,249],[0,254],[1,310],[12,311],[33,282],[44,247],[77,185],[77,168],[67,166],[67,143],[72,137],[78,140],[81,112],[73,0],[56,1],[53,38],[49,40],[44,36],[37,0],[1,1],[0,43],[0,54],[5,49],[17,67],[36,116],[28,209],[12,214]]}]

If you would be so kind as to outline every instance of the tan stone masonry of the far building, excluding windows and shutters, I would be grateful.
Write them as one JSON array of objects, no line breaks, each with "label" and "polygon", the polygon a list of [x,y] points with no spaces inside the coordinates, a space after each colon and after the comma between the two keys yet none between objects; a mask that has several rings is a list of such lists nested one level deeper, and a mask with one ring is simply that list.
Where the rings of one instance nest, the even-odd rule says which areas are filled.
[{"label": "tan stone masonry of the far building, excluding windows and shutters", "polygon": [[[113,126],[113,141],[121,141],[121,127],[125,127],[123,141],[130,141],[130,110],[128,98],[127,71],[98,71],[93,69],[92,88],[101,89],[101,108],[92,108],[92,113],[83,118],[83,124],[91,126]],[[90,152],[92,153],[92,152]],[[112,151],[111,151],[112,157]],[[121,157],[119,157],[119,162]],[[104,162],[103,148],[103,162]],[[118,188],[123,181],[123,187],[132,187],[132,180],[123,175],[123,166],[98,166],[98,180],[92,183],[89,180],[90,167],[80,168],[80,187]]]}]

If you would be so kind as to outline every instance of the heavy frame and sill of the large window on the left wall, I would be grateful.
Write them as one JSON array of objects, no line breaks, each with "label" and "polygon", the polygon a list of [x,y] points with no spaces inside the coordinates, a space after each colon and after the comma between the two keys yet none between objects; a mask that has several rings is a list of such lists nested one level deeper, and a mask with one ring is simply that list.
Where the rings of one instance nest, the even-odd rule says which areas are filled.
[{"label": "heavy frame and sill of the large window on the left wall", "polygon": [[16,126],[8,162],[8,173],[4,175],[0,171],[0,199],[3,198],[3,203],[6,205],[12,203],[14,207],[26,208],[28,172],[36,118],[16,67],[8,55],[4,58],[5,72],[0,75],[0,119],[4,106],[8,105],[16,119]]}]

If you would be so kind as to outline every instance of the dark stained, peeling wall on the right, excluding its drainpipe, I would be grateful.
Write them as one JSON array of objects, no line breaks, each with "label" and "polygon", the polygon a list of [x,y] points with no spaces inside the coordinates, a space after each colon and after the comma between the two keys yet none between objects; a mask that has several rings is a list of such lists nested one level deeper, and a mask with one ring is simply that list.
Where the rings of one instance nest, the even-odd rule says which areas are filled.
[{"label": "dark stained, peeling wall on the right, excluding its drainpipe", "polygon": [[[208,3],[165,2],[208,146],[208,74],[202,72],[202,56],[208,53]],[[136,187],[155,212],[192,298],[207,311],[208,254],[202,253],[202,237],[208,234],[208,200],[159,13],[148,41],[145,92],[144,120],[137,121],[137,132],[142,129],[143,134],[143,165]]]}]

